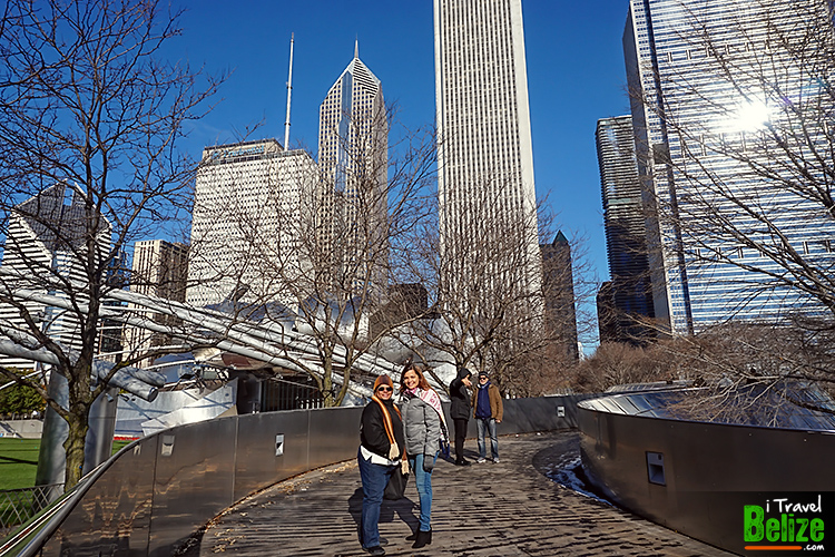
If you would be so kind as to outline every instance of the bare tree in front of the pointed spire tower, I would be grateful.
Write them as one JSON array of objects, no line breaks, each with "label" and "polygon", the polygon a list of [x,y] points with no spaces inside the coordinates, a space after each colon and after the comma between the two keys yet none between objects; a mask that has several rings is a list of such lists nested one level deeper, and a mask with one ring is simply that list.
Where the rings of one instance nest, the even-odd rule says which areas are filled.
[{"label": "bare tree in front of the pointed spire tower", "polygon": [[[396,108],[372,115],[374,120],[383,119],[385,126],[376,121],[357,125],[356,118],[352,124],[370,131],[354,135],[353,145],[345,149],[351,154],[345,165],[345,189],[333,190],[332,175],[321,176],[315,199],[320,211],[306,212],[325,214],[328,223],[315,218],[320,234],[313,235],[305,233],[310,221],[302,222],[301,253],[311,265],[310,272],[299,280],[278,280],[296,309],[296,326],[308,332],[316,344],[316,363],[323,373],[311,375],[326,405],[343,402],[348,381],[360,379],[354,369],[360,359],[373,354],[374,346],[392,329],[415,319],[413,312],[391,312],[391,294],[396,292],[391,289],[397,283],[395,270],[410,257],[403,248],[407,234],[426,218],[425,196],[434,178],[433,134],[401,128],[400,138],[390,146],[371,130],[396,126]],[[321,211],[323,201],[325,212]],[[330,232],[324,238],[323,227]],[[293,358],[289,352],[286,355]],[[310,370],[304,361],[296,363]],[[337,375],[341,384],[335,382]]]}]

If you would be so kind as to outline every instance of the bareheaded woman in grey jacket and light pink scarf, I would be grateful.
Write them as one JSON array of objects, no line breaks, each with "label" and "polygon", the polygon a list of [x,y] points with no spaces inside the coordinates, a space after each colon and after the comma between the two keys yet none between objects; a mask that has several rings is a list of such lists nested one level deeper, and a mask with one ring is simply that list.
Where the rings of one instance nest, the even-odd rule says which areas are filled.
[{"label": "bareheaded woman in grey jacket and light pink scarf", "polygon": [[446,440],[441,398],[429,385],[418,365],[406,364],[401,375],[403,430],[409,465],[414,470],[414,483],[421,504],[418,530],[406,539],[414,539],[414,548],[432,543],[432,470],[440,449]]}]

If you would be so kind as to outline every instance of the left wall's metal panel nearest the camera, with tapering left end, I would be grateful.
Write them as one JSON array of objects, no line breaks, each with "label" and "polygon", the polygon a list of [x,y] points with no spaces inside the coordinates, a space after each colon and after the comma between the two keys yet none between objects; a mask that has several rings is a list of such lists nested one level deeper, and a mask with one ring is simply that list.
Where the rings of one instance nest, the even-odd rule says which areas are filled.
[{"label": "left wall's metal panel nearest the camera, with tapering left end", "polygon": [[125,447],[43,547],[43,556],[148,553],[157,439]]}]

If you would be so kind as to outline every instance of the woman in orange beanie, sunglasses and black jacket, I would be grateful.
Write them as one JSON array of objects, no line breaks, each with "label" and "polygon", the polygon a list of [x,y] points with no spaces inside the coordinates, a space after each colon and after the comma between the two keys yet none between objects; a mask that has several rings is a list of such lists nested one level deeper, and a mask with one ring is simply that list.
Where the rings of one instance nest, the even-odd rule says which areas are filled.
[{"label": "woman in orange beanie, sunglasses and black jacket", "polygon": [[360,422],[360,451],[356,460],[363,482],[363,511],[360,543],[371,555],[385,555],[380,538],[380,507],[389,478],[401,466],[405,442],[400,410],[392,395],[394,383],[389,375],[374,381],[374,394],[363,410]]}]

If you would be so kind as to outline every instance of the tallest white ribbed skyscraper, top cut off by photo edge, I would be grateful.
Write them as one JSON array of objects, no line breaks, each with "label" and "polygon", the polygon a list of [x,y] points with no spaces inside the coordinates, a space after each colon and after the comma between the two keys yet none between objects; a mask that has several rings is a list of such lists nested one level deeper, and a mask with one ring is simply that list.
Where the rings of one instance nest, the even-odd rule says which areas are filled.
[{"label": "tallest white ribbed skyscraper, top cut off by photo edge", "polygon": [[[434,27],[444,280],[468,297],[468,270],[494,258],[493,294],[539,292],[521,0],[434,0]],[[518,245],[498,253],[508,231]]]}]

